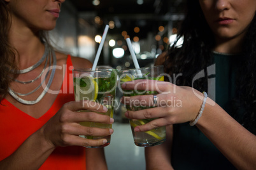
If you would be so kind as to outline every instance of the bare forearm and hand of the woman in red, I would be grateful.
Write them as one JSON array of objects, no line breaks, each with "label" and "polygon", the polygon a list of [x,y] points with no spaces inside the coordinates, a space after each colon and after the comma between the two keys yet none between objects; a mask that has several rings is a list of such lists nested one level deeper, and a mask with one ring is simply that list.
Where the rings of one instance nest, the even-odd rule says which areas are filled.
[{"label": "bare forearm and hand of the woman in red", "polygon": [[[41,129],[31,134],[13,154],[1,160],[0,169],[38,169],[55,147],[99,146],[106,143],[104,139],[87,140],[78,136],[79,134],[95,136],[111,134],[110,129],[89,128],[77,123],[92,121],[111,124],[112,122],[109,116],[95,112],[80,112],[78,114],[76,110],[88,109],[88,105],[83,105],[83,102],[71,101],[66,103]],[[103,105],[98,103],[90,109],[106,112]]]}]

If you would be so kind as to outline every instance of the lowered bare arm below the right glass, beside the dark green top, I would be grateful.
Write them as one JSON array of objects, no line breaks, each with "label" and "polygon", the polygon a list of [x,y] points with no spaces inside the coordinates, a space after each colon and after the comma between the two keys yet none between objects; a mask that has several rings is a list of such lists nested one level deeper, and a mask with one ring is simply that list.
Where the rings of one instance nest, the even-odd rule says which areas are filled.
[{"label": "lowered bare arm below the right glass, beside the dark green top", "polygon": [[145,148],[146,170],[171,170],[173,126],[166,126],[166,141],[162,145]]}]

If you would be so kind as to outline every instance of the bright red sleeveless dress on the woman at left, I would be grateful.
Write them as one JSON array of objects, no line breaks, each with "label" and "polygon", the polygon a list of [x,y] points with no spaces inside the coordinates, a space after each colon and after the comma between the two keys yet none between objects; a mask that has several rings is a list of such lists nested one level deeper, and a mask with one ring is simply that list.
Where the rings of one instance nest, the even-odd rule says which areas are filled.
[{"label": "bright red sleeveless dress on the woman at left", "polygon": [[[25,114],[8,100],[0,105],[0,160],[10,156],[32,133],[43,126],[64,103],[74,101],[73,65],[68,55],[66,72],[59,95],[52,107],[35,119]],[[39,169],[86,169],[84,147],[57,147]]]}]

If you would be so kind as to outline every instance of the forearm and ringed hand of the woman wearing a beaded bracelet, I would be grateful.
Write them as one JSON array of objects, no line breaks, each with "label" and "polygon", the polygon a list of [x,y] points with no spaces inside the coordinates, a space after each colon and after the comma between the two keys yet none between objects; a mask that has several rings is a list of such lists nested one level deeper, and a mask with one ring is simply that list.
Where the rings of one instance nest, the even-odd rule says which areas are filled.
[{"label": "forearm and ringed hand of the woman wearing a beaded bracelet", "polygon": [[[125,82],[122,84],[124,89],[133,89],[136,82],[145,81],[137,80],[133,84]],[[151,82],[151,81],[149,81]],[[194,121],[200,110],[203,94],[190,87],[175,86],[169,82],[153,81],[139,84],[137,88],[143,90],[158,85],[162,92],[157,95],[158,101],[162,102],[162,107],[148,108],[139,111],[127,111],[125,116],[129,119],[149,119],[157,118],[142,126],[136,126],[134,131],[148,131],[160,126],[178,124],[182,122]],[[168,85],[169,84],[169,85]],[[169,87],[168,87],[169,86]],[[157,88],[155,88],[157,90]],[[166,92],[171,93],[166,93]],[[172,93],[174,91],[174,93]],[[165,94],[163,93],[165,92]],[[152,96],[132,96],[125,97],[125,104],[136,100],[145,100],[150,102]],[[170,98],[175,98],[182,105],[174,105]],[[168,101],[169,100],[169,101]],[[168,103],[169,102],[169,103]],[[211,142],[229,159],[229,161],[238,169],[256,169],[256,136],[241,126],[225,110],[217,105],[210,98],[207,98],[206,107],[202,117],[196,126],[211,140]],[[211,103],[211,105],[210,105]],[[171,107],[170,107],[171,106]]]}]

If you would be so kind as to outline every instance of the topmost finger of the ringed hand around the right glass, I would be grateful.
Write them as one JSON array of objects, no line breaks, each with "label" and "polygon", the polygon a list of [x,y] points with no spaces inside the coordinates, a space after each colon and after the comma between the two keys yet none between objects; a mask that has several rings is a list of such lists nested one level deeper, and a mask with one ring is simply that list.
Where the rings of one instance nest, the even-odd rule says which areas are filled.
[{"label": "topmost finger of the ringed hand around the right glass", "polygon": [[[169,85],[169,86],[167,86]],[[136,81],[127,81],[122,84],[122,89],[124,90],[139,90],[138,94],[141,94],[141,90],[144,91],[157,91],[158,93],[169,92],[174,86],[170,82],[166,81],[155,81],[149,79],[139,79]],[[124,91],[124,93],[127,93]]]}]

